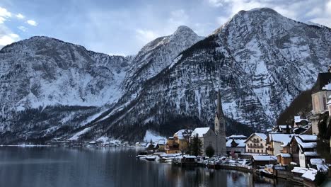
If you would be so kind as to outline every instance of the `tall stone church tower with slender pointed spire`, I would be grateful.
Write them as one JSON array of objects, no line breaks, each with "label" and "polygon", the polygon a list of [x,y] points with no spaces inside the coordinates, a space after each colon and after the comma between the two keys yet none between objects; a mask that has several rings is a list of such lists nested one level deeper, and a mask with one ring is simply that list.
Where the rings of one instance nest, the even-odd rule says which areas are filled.
[{"label": "tall stone church tower with slender pointed spire", "polygon": [[215,133],[217,135],[216,154],[226,154],[226,122],[222,109],[221,92],[217,92],[217,111],[215,114]]}]

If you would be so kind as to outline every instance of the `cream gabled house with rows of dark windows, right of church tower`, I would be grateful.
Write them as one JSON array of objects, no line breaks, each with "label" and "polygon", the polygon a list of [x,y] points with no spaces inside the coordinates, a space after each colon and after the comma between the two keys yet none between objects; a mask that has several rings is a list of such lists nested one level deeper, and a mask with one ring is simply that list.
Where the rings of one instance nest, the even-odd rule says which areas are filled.
[{"label": "cream gabled house with rows of dark windows, right of church tower", "polygon": [[267,135],[263,133],[253,133],[245,140],[246,152],[267,154]]}]

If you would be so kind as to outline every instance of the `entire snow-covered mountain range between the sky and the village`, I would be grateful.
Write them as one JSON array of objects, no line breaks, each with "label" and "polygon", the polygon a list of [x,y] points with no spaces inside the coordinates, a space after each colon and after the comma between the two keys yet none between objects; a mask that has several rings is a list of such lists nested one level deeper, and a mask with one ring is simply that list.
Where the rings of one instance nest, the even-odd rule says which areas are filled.
[{"label": "entire snow-covered mountain range between the sky and the village", "polygon": [[127,58],[45,37],[16,42],[0,52],[0,141],[141,140],[148,129],[212,125],[217,89],[230,128],[263,129],[326,71],[330,43],[330,28],[270,8],[240,11],[203,40],[180,26]]}]

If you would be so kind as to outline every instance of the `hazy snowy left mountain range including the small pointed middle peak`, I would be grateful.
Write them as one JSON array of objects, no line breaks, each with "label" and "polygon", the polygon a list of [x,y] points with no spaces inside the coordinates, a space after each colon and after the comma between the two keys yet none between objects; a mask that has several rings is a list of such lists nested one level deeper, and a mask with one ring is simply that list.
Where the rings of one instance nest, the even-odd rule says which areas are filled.
[{"label": "hazy snowy left mountain range including the small pointed middle peak", "polygon": [[4,47],[0,51],[0,141],[71,137],[71,131],[107,111],[123,94],[137,94],[133,88],[201,39],[180,26],[173,35],[157,38],[129,57],[92,52],[47,37]]}]

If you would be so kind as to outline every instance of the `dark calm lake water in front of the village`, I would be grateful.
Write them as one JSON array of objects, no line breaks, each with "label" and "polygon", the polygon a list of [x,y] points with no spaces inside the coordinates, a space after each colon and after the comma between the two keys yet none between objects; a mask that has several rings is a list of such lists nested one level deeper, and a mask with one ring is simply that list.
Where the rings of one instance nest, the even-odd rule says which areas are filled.
[{"label": "dark calm lake water in front of the village", "polygon": [[[290,186],[240,171],[182,169],[134,148],[0,147],[0,186]],[[265,180],[271,182],[268,183]]]}]

